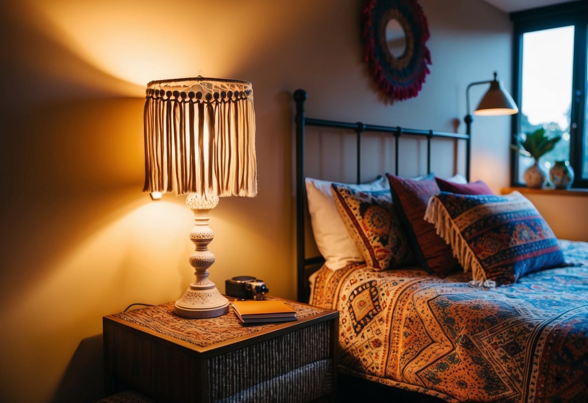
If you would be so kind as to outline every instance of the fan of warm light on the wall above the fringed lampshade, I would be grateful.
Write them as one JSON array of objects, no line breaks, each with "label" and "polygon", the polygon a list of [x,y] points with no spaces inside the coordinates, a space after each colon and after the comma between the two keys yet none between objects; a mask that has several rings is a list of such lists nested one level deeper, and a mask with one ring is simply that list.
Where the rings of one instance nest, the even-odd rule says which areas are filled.
[{"label": "fan of warm light on the wall above the fringed lampshade", "polygon": [[[55,36],[92,65],[117,78],[144,86],[153,79],[205,76],[235,77],[235,70],[255,60],[270,42],[279,41],[283,25],[294,23],[296,8],[272,2],[32,0],[34,8],[58,29]],[[263,12],[265,25],[255,23]],[[278,15],[283,14],[283,15]],[[161,17],[161,18],[160,18]],[[277,27],[276,27],[277,28]],[[264,46],[260,46],[263,43]]]}]

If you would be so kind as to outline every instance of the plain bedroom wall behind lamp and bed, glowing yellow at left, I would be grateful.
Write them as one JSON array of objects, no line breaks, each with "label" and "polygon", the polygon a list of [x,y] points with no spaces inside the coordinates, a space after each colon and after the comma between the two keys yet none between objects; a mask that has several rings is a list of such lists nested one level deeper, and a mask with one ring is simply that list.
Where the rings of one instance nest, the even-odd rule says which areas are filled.
[{"label": "plain bedroom wall behind lamp and bed, glowing yellow at left", "polygon": [[[100,397],[102,316],[175,300],[193,278],[191,211],[141,193],[149,80],[253,83],[259,196],[213,211],[211,278],[222,291],[251,274],[294,298],[293,90],[308,91],[309,116],[452,130],[467,83],[497,70],[510,86],[506,14],[481,0],[420,3],[432,73],[417,98],[390,105],[362,62],[359,0],[3,1],[0,401]],[[498,190],[509,119],[474,130],[472,176]]]}]

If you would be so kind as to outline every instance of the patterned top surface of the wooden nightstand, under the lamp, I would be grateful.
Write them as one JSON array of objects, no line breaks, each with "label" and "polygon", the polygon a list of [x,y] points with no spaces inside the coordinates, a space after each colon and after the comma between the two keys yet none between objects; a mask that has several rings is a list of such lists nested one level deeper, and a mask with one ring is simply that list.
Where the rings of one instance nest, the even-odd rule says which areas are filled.
[{"label": "patterned top surface of the wooden nightstand, under the lamp", "polygon": [[[271,298],[280,299],[280,298]],[[205,357],[236,350],[253,342],[268,340],[303,327],[336,320],[338,311],[284,300],[296,310],[298,320],[282,323],[243,325],[232,308],[228,314],[205,319],[188,319],[173,314],[173,303],[108,315],[112,321],[199,352]]]}]

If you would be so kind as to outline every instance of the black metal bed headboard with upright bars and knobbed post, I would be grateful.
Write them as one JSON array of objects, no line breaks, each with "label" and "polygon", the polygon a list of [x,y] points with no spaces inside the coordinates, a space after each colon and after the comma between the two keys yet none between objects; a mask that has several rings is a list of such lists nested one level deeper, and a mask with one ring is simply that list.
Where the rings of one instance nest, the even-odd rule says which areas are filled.
[{"label": "black metal bed headboard with upright bars and knobbed post", "polygon": [[449,139],[465,140],[466,142],[466,179],[470,173],[470,136],[459,133],[437,132],[435,130],[415,130],[403,127],[366,125],[362,122],[347,123],[333,120],[312,119],[304,114],[304,102],[306,91],[297,89],[294,92],[296,101],[296,276],[298,283],[298,301],[306,302],[309,297],[308,277],[309,267],[323,261],[322,256],[306,257],[305,253],[305,211],[306,211],[306,185],[304,171],[304,137],[305,126],[331,127],[333,129],[349,129],[356,133],[357,157],[356,173],[357,182],[360,182],[361,173],[361,139],[366,132],[382,133],[395,137],[395,174],[398,174],[399,141],[404,135],[423,136],[427,139],[427,173],[431,172],[431,140],[433,137],[445,137]]}]

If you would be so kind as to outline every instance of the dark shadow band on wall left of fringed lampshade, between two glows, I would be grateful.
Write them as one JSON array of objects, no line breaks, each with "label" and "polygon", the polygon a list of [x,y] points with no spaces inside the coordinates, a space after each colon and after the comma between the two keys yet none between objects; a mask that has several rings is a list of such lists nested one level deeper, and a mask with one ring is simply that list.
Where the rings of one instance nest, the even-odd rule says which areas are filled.
[{"label": "dark shadow band on wall left of fringed lampshade, between two glows", "polygon": [[[2,86],[18,89],[9,102],[2,100],[10,133],[0,159],[9,173],[9,197],[0,200],[0,223],[11,234],[2,247],[12,267],[7,290],[18,289],[24,273],[42,279],[74,239],[105,224],[103,199],[141,183],[142,175],[142,92],[121,98],[136,86],[48,36],[49,22],[31,6],[16,7],[5,4],[0,17],[0,41],[10,56],[3,62]],[[41,264],[22,258],[32,248],[43,256]]]}]

